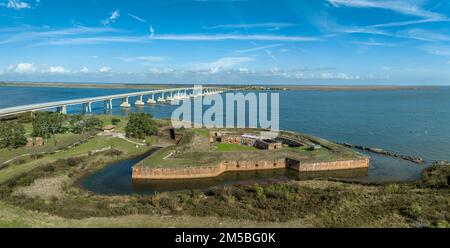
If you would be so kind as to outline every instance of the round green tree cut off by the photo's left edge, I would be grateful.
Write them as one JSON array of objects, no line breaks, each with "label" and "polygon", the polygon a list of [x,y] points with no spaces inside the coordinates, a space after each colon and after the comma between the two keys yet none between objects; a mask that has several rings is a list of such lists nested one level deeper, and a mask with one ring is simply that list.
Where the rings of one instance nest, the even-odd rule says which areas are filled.
[{"label": "round green tree cut off by the photo's left edge", "polygon": [[19,148],[27,144],[25,128],[17,122],[0,122],[0,148]]}]

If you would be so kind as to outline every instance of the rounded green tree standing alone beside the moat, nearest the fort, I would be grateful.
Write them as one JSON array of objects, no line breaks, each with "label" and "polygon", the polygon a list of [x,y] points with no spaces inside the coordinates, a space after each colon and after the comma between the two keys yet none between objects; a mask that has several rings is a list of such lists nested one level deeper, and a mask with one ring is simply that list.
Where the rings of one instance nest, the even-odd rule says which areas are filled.
[{"label": "rounded green tree standing alone beside the moat, nearest the fort", "polygon": [[146,113],[131,113],[129,121],[125,127],[127,137],[145,139],[146,136],[158,133],[158,125],[153,116]]}]

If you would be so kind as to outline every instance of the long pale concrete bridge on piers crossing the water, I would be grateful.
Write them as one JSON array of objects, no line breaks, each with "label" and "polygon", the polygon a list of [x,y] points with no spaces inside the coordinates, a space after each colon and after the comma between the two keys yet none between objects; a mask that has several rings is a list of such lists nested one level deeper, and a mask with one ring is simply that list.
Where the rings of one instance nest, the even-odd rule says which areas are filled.
[{"label": "long pale concrete bridge on piers crossing the water", "polygon": [[[201,89],[201,90],[200,90]],[[91,113],[92,112],[92,103],[94,102],[103,102],[105,110],[110,110],[113,108],[113,100],[121,99],[122,102],[120,107],[129,108],[131,107],[130,98],[136,97],[137,100],[134,102],[136,106],[143,106],[145,103],[147,104],[162,104],[162,103],[170,103],[173,100],[182,100],[189,99],[200,96],[208,96],[214,94],[220,94],[227,89],[219,88],[219,87],[202,87],[202,88],[172,88],[172,89],[163,89],[163,90],[150,90],[150,91],[142,91],[142,92],[131,92],[110,96],[99,96],[99,97],[90,97],[90,98],[82,98],[75,100],[67,100],[67,101],[57,101],[57,102],[47,102],[47,103],[38,103],[38,104],[30,104],[24,106],[17,106],[11,108],[0,109],[0,117],[16,115],[20,113],[26,112],[35,112],[46,109],[55,109],[62,113],[67,114],[67,108],[69,106],[74,105],[82,105],[83,113]]]}]

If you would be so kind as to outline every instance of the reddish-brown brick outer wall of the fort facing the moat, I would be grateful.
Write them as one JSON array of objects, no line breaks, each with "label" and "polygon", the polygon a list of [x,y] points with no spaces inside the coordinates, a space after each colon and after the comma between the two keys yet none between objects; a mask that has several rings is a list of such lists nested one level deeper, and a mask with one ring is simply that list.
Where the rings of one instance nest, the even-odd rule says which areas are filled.
[{"label": "reddish-brown brick outer wall of the fort facing the moat", "polygon": [[151,168],[139,164],[133,166],[133,179],[195,179],[217,177],[228,171],[257,171],[289,168],[299,172],[361,169],[369,167],[369,158],[330,162],[301,162],[289,158],[252,161],[223,161],[213,166]]}]

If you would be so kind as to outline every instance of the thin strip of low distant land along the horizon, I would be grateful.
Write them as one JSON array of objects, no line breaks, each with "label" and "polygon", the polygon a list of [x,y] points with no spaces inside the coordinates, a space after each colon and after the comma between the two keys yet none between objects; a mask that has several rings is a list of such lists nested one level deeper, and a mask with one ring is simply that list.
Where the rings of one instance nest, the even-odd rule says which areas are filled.
[{"label": "thin strip of low distant land along the horizon", "polygon": [[[99,89],[164,89],[192,86],[192,84],[125,84],[125,83],[53,83],[53,82],[0,82],[5,87],[55,87],[55,88],[99,88]],[[205,85],[208,86],[208,85]],[[303,90],[303,91],[378,91],[378,90],[421,90],[439,86],[397,86],[397,85],[214,85],[242,90]]]}]

